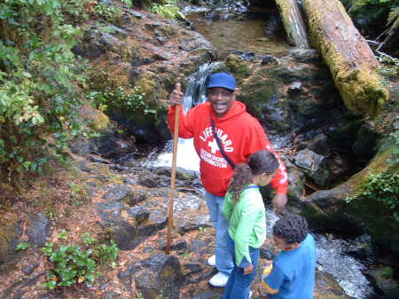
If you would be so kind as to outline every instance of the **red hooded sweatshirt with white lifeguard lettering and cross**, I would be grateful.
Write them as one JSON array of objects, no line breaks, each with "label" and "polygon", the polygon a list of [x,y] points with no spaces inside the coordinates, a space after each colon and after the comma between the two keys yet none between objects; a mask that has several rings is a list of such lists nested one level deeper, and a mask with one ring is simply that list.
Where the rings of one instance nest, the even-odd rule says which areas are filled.
[{"label": "red hooded sweatshirt with white lifeguard lettering and cross", "polygon": [[[175,106],[168,112],[169,127],[175,127]],[[246,106],[235,100],[227,114],[217,118],[209,102],[193,107],[186,115],[180,109],[179,137],[194,138],[194,147],[200,156],[200,176],[207,192],[224,196],[234,170],[223,158],[217,146],[210,117],[215,123],[215,131],[223,145],[223,150],[235,164],[246,163],[249,156],[268,149],[274,153],[261,124],[246,112]],[[278,157],[278,155],[276,155]],[[286,194],[288,177],[284,164],[278,159],[276,176],[270,182],[277,193]]]}]

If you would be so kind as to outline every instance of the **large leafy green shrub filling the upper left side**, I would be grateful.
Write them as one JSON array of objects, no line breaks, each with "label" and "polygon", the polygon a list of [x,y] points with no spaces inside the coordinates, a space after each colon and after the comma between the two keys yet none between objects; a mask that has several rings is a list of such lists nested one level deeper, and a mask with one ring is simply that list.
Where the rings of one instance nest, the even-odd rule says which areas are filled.
[{"label": "large leafy green shrub filling the upper left side", "polygon": [[60,153],[84,134],[82,98],[71,48],[89,0],[4,0],[0,3],[0,173],[43,170],[46,153]]}]

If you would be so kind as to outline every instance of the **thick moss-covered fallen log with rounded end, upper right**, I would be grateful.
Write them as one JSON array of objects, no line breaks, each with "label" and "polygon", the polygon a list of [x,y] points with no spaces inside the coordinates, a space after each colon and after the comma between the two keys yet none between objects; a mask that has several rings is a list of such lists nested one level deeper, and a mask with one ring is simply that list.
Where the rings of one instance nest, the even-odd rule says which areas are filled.
[{"label": "thick moss-covered fallen log with rounded end, upper right", "polygon": [[389,97],[376,68],[379,62],[338,0],[303,0],[310,42],[330,67],[350,111],[375,115]]}]

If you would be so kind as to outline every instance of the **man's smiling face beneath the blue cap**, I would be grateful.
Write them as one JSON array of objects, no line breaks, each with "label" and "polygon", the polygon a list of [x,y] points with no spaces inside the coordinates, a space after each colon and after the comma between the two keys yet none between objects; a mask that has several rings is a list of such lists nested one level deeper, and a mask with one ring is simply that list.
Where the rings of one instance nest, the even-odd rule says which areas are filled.
[{"label": "man's smiling face beneath the blue cap", "polygon": [[214,87],[207,90],[207,98],[209,99],[216,116],[223,117],[223,115],[229,111],[233,101],[236,99],[236,93],[222,87]]}]

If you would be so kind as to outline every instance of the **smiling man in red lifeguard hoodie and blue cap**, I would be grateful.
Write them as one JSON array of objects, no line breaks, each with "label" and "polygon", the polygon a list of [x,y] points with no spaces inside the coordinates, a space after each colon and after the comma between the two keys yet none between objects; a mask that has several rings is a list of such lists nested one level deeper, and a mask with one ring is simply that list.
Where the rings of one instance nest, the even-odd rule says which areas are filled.
[{"label": "smiling man in red lifeguard hoodie and blue cap", "polygon": [[[208,264],[218,272],[209,283],[224,287],[233,268],[227,248],[229,224],[223,216],[223,199],[233,176],[235,164],[246,163],[248,157],[260,150],[272,151],[269,139],[261,124],[246,112],[246,106],[236,100],[236,79],[227,73],[216,73],[207,83],[208,101],[183,114],[180,109],[179,137],[193,138],[200,156],[200,177],[206,191],[207,207],[216,230],[215,256]],[[168,122],[174,130],[176,105],[181,104],[184,93],[177,88],[170,94]],[[222,147],[222,148],[221,148]],[[276,176],[270,182],[276,189],[274,208],[282,213],[286,205],[288,177],[280,162]]]}]

